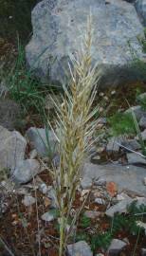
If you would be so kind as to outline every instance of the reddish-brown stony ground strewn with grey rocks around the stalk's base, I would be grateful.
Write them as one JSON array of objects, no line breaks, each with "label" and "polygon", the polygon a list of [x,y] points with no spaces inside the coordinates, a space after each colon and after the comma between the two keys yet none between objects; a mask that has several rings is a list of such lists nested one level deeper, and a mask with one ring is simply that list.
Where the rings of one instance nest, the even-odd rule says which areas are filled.
[{"label": "reddish-brown stony ground strewn with grey rocks around the stalk's base", "polygon": [[[138,105],[133,110],[145,141],[146,112]],[[9,108],[7,111],[9,113]],[[103,131],[105,127],[110,129],[105,120],[99,119],[97,132],[99,125]],[[48,131],[30,127],[22,136],[20,132],[13,130],[13,118],[11,123],[9,119],[12,131],[6,128],[7,121],[4,123],[2,119],[1,122],[1,255],[6,255],[6,252],[11,255],[9,250],[16,256],[36,255],[39,245],[42,255],[57,255],[59,219],[53,183],[47,168],[50,161],[46,146]],[[53,152],[53,162],[58,164],[56,137],[51,131],[48,137],[49,152]],[[145,255],[145,211],[128,210],[133,204],[137,209],[146,209],[145,170],[146,159],[142,155],[138,137],[107,137],[106,140],[98,137],[82,170],[82,181],[72,209],[73,215],[86,195],[87,199],[75,227],[76,237],[70,238],[70,245],[76,242],[75,251],[72,251],[72,246],[68,246],[67,255],[78,255],[80,252],[82,256],[93,255],[93,252],[94,255],[133,255],[134,251],[135,255]],[[112,234],[112,238],[107,236],[103,242],[98,241],[93,247],[92,238],[99,233],[107,235],[117,214],[124,218],[139,214],[139,236],[135,230],[131,232],[130,228],[126,229],[125,224],[122,224]]]}]

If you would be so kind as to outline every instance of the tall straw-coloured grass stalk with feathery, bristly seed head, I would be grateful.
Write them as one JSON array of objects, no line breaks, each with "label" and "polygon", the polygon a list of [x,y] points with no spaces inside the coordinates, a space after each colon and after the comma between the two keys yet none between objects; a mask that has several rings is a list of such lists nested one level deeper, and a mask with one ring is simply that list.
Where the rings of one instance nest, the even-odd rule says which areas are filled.
[{"label": "tall straw-coloured grass stalk with feathery, bristly seed head", "polygon": [[[53,167],[54,188],[60,210],[60,248],[59,255],[64,255],[68,234],[66,225],[73,207],[77,188],[82,174],[82,165],[87,149],[92,143],[97,120],[95,116],[99,106],[92,108],[97,92],[97,66],[92,67],[91,16],[82,40],[82,49],[71,58],[69,64],[71,82],[64,86],[64,99],[56,106],[56,136],[59,140],[60,164]],[[74,218],[74,222],[77,218]],[[72,227],[72,225],[71,225]],[[71,231],[71,230],[70,230]]]}]

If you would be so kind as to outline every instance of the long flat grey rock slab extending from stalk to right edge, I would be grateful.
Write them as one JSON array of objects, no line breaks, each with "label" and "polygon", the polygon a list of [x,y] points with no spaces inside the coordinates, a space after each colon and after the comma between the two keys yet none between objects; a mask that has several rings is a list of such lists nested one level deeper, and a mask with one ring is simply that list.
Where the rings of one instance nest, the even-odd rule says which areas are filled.
[{"label": "long flat grey rock slab extending from stalk to right edge", "polygon": [[131,194],[145,196],[145,168],[119,164],[84,164],[82,170],[82,182],[86,177],[92,182],[98,178],[104,178],[105,181],[113,181],[118,185],[119,192],[128,191]]}]

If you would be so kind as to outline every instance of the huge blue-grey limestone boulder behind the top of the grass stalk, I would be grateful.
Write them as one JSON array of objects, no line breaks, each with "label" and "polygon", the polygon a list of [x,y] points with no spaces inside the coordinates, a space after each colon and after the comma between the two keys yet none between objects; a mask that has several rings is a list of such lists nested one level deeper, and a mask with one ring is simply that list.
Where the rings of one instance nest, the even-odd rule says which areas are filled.
[{"label": "huge blue-grey limestone boulder behind the top of the grass stalk", "polygon": [[[65,82],[68,57],[82,42],[89,11],[94,29],[92,57],[104,76],[102,85],[136,80],[128,64],[141,58],[143,27],[134,5],[122,0],[44,0],[32,10],[33,36],[26,47],[27,64],[42,80]],[[137,68],[137,67],[135,67]],[[134,74],[136,76],[134,76]]]}]

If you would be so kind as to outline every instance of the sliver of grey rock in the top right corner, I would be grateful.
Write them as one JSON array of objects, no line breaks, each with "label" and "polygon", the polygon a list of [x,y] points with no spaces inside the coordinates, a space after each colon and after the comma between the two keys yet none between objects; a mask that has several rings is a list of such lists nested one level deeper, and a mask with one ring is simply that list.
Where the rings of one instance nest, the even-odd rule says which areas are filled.
[{"label": "sliver of grey rock in the top right corner", "polygon": [[146,0],[137,0],[135,5],[142,24],[146,26]]}]

